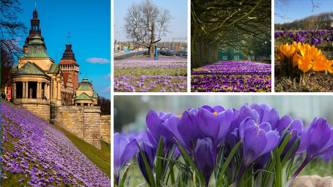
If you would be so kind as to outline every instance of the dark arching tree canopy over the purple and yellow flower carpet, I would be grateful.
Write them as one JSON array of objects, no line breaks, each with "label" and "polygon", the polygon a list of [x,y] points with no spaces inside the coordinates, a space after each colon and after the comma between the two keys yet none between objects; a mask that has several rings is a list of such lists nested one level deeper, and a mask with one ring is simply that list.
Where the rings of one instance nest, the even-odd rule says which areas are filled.
[{"label": "dark arching tree canopy over the purple and yellow flower carpet", "polygon": [[248,49],[270,36],[269,0],[191,1],[191,68],[217,62],[221,48]]}]

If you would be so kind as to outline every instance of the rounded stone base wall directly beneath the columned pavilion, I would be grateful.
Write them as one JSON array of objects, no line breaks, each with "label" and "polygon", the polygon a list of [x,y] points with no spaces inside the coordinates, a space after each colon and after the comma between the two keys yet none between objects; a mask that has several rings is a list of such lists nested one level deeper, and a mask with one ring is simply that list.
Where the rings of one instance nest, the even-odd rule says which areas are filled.
[{"label": "rounded stone base wall directly beneath the columned pavilion", "polygon": [[49,122],[50,119],[50,105],[47,104],[20,104],[20,108],[34,114],[42,120]]}]

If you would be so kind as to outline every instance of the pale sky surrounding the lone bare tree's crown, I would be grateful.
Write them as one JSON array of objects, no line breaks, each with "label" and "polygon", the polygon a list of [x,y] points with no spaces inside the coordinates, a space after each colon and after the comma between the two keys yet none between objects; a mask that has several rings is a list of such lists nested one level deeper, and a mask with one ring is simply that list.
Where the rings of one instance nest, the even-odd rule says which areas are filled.
[{"label": "pale sky surrounding the lone bare tree's crown", "polygon": [[[133,3],[141,3],[140,0],[128,0],[126,3],[123,1],[114,1],[114,38],[117,38],[118,32],[118,40],[119,35],[121,35],[121,41],[126,41],[125,33],[123,32],[122,27],[124,26],[124,17],[127,13],[127,8]],[[171,16],[174,17],[171,21],[169,31],[174,33],[174,38],[179,38],[179,34],[181,34],[182,38],[190,37],[187,36],[187,25],[188,25],[188,1],[186,0],[171,0],[171,1],[160,1],[160,0],[153,0],[152,1],[155,5],[169,10],[171,13]],[[113,28],[112,28],[113,31]],[[165,33],[165,41],[168,42],[171,41],[172,33]],[[163,37],[161,37],[162,41],[164,40]],[[177,41],[176,41],[177,42]],[[179,40],[178,40],[179,42]],[[184,41],[185,42],[185,41]]]}]

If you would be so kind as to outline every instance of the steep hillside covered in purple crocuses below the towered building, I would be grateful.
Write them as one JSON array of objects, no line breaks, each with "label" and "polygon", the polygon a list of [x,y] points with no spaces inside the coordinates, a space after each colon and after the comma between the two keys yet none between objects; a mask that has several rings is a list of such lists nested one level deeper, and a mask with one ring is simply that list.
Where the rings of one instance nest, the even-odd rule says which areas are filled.
[{"label": "steep hillside covered in purple crocuses below the towered building", "polygon": [[56,127],[1,101],[2,186],[110,186]]}]

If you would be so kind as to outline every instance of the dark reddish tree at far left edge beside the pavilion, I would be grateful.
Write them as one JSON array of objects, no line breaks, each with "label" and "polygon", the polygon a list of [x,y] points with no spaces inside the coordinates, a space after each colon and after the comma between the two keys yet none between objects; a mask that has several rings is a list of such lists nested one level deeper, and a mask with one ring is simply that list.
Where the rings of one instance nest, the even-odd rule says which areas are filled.
[{"label": "dark reddish tree at far left edge beside the pavilion", "polygon": [[1,44],[1,87],[8,86],[11,82],[11,70],[14,65],[14,58],[7,48]]}]

